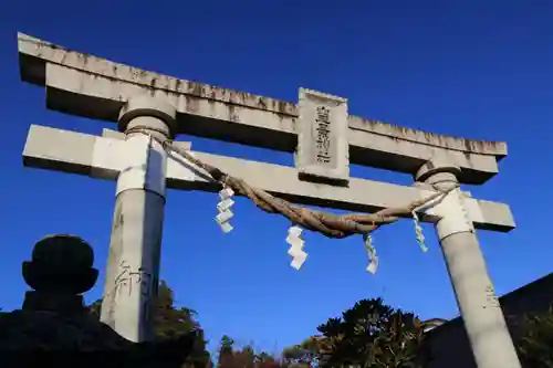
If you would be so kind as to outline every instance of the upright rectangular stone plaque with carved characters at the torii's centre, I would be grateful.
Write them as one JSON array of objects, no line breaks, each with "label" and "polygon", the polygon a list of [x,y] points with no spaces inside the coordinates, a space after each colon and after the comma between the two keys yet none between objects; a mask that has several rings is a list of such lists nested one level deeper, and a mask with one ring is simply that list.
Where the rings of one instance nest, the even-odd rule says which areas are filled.
[{"label": "upright rectangular stone plaque with carved characters at the torii's centre", "polygon": [[347,182],[347,99],[300,88],[295,166],[301,179]]}]

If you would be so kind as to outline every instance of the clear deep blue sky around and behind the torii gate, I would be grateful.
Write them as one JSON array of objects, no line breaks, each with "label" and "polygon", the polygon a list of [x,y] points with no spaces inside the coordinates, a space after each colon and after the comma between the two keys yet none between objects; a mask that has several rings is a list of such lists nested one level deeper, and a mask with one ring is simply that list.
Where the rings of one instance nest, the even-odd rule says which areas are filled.
[{"label": "clear deep blue sky around and behind the torii gate", "polygon": [[[19,3],[19,4],[17,4]],[[552,271],[549,171],[553,122],[553,2],[512,1],[24,1],[0,4],[0,306],[20,307],[21,262],[50,233],[83,236],[101,281],[114,182],[23,168],[30,124],[98,134],[107,123],[45,108],[19,80],[17,31],[149,71],[296,101],[304,86],[344,96],[354,115],[468,138],[505,140],[500,175],[474,197],[511,204],[518,229],[480,232],[499,294]],[[192,137],[198,150],[292,165],[288,154]],[[410,185],[406,175],[353,175]],[[161,276],[199,312],[215,346],[299,343],[355,301],[383,296],[424,318],[458,314],[431,227],[424,254],[409,221],[375,234],[380,269],[365,272],[359,238],[307,234],[310,257],[289,266],[286,221],[236,204],[236,231],[213,222],[217,197],[171,191]]]}]

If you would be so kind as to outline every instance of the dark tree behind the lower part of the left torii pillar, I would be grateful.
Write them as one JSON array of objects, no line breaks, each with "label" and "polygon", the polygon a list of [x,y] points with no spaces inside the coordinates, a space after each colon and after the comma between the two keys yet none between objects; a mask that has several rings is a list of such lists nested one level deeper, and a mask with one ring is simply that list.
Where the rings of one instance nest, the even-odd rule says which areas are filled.
[{"label": "dark tree behind the lower part of the left torii pillar", "polygon": [[[101,308],[102,299],[97,299],[88,306],[88,313],[100,318]],[[174,292],[165,281],[159,283],[154,308],[156,339],[174,339],[195,330],[194,348],[182,367],[210,368],[211,357],[206,349],[204,330],[196,320],[196,312],[186,307],[176,307]]]}]

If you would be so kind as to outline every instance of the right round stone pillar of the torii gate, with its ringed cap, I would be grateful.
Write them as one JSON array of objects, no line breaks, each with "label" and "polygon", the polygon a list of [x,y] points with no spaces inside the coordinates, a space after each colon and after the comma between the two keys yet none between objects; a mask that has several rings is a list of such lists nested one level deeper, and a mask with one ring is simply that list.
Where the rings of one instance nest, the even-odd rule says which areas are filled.
[{"label": "right round stone pillar of the torii gate, with its ringed cap", "polygon": [[[415,180],[444,190],[459,185],[459,174],[458,167],[432,159]],[[432,213],[441,218],[436,232],[478,368],[521,368],[461,190],[450,191]]]}]

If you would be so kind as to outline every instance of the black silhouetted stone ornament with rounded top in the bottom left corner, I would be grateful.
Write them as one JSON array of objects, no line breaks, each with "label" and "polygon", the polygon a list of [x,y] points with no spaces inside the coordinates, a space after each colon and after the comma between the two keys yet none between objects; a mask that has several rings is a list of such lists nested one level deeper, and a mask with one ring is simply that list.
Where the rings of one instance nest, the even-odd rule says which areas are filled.
[{"label": "black silhouetted stone ornament with rounded top in the bottom left corner", "polygon": [[96,283],[92,248],[79,236],[46,236],[23,262],[33,290],[23,307],[0,313],[0,366],[21,367],[181,367],[196,332],[178,339],[135,344],[101,323],[81,294]]}]

